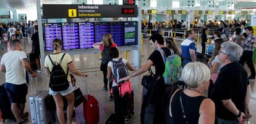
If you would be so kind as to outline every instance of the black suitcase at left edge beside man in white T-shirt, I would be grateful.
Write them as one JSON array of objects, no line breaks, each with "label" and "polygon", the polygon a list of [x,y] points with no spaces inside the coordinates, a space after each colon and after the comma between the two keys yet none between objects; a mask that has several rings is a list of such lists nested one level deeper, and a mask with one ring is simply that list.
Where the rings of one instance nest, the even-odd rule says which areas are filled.
[{"label": "black suitcase at left edge beside man in white T-shirt", "polygon": [[4,84],[0,85],[0,109],[2,112],[2,122],[4,123],[6,119],[13,119],[15,121],[14,114],[11,110],[11,102],[7,91],[4,88]]}]

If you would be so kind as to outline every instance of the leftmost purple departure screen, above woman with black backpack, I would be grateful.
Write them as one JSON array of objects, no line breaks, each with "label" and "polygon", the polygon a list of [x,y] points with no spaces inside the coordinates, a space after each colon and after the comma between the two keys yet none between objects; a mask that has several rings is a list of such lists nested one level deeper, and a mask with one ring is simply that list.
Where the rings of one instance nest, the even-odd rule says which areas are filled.
[{"label": "leftmost purple departure screen, above woman with black backpack", "polygon": [[61,39],[61,23],[45,23],[45,48],[52,51],[51,43],[53,39]]}]

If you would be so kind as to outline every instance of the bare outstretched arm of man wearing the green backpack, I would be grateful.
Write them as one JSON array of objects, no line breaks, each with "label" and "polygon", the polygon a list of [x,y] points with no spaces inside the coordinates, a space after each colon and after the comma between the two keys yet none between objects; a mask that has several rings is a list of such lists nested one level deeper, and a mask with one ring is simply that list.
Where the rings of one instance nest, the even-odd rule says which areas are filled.
[{"label": "bare outstretched arm of man wearing the green backpack", "polygon": [[143,74],[144,72],[148,71],[148,69],[151,66],[153,66],[153,61],[148,60],[145,64],[143,64],[143,66],[140,69],[138,69],[137,71],[133,72],[129,76],[120,79],[119,82],[121,82],[123,80],[129,80],[130,78],[135,77],[135,76],[139,76],[140,74]]}]

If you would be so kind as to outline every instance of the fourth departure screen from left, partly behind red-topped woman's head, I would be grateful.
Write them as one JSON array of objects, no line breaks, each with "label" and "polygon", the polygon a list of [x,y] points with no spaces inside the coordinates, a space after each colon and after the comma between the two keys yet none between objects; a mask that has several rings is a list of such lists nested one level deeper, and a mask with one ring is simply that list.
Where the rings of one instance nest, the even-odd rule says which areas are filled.
[{"label": "fourth departure screen from left, partly behind red-topped woman's head", "polygon": [[108,22],[95,22],[94,23],[95,43],[101,42],[104,34],[109,33]]}]

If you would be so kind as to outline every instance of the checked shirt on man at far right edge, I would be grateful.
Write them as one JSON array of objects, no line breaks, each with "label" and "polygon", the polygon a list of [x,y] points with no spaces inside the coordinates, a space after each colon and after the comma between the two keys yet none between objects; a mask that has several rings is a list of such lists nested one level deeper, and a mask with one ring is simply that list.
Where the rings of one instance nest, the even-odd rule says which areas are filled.
[{"label": "checked shirt on man at far right edge", "polygon": [[244,48],[244,50],[254,51],[255,40],[256,40],[256,37],[254,36],[254,34],[248,35],[244,41],[244,44],[242,44],[242,47]]}]

